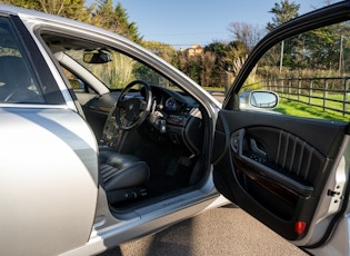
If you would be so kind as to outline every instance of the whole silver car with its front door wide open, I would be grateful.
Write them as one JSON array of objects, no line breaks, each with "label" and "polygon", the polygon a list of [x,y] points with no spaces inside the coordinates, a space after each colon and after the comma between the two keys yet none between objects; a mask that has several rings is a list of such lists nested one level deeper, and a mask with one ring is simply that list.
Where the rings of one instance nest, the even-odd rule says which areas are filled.
[{"label": "whole silver car with its front door wide open", "polygon": [[[94,255],[230,201],[311,254],[349,255],[349,119],[239,102],[281,41],[349,17],[343,1],[276,29],[219,102],[118,35],[0,4],[1,255]],[[258,83],[246,98],[269,107],[303,91]]]}]

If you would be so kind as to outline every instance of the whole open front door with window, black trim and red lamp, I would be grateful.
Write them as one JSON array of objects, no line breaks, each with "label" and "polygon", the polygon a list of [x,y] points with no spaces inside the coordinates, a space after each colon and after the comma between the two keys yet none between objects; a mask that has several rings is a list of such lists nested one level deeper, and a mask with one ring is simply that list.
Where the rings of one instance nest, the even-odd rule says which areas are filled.
[{"label": "whole open front door with window, black trim and red lamp", "polygon": [[[350,2],[341,2],[271,31],[246,60],[216,126],[218,190],[304,248],[331,240],[348,201],[347,70],[339,73],[338,63],[326,60],[336,59],[336,48],[339,58],[339,43],[323,43],[320,33],[337,31],[340,40],[350,28],[349,13]],[[329,72],[321,77],[320,70]],[[251,90],[273,91],[279,106],[252,102]],[[336,99],[338,95],[343,98]],[[348,252],[346,244],[342,252]]]}]

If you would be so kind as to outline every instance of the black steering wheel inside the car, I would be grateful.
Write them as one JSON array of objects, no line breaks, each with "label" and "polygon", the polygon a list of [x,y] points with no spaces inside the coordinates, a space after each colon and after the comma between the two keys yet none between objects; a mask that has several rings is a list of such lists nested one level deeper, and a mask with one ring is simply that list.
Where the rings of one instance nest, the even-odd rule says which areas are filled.
[{"label": "black steering wheel inside the car", "polygon": [[[133,87],[137,87],[141,93],[129,93]],[[130,82],[119,96],[116,107],[116,120],[123,130],[130,130],[141,125],[150,112],[152,104],[151,87],[142,80]]]}]

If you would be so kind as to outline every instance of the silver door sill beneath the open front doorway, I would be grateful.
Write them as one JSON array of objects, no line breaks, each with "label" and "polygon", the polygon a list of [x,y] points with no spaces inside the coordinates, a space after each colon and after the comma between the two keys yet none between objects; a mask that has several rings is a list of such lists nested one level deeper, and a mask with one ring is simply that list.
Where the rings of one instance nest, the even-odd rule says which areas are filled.
[{"label": "silver door sill beneath the open front doorway", "polygon": [[[127,219],[120,223],[114,221],[114,224],[110,223],[102,227],[96,227],[86,245],[63,255],[97,254],[114,245],[161,232],[202,211],[227,205],[228,200],[222,196],[218,197],[217,190],[212,185],[212,180],[209,180],[201,190],[141,208],[136,210],[134,215],[127,216]],[[208,197],[208,193],[211,195],[210,197]],[[100,216],[103,219],[102,221],[108,221],[107,215],[108,213]],[[126,215],[120,214],[119,217],[126,218]]]}]

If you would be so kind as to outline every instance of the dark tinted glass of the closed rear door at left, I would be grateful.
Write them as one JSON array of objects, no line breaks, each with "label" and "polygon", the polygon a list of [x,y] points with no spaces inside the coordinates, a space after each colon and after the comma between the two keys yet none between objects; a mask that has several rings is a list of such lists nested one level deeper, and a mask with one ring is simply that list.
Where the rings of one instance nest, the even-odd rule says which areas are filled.
[{"label": "dark tinted glass of the closed rear door at left", "polygon": [[0,104],[44,102],[11,23],[0,17]]}]

